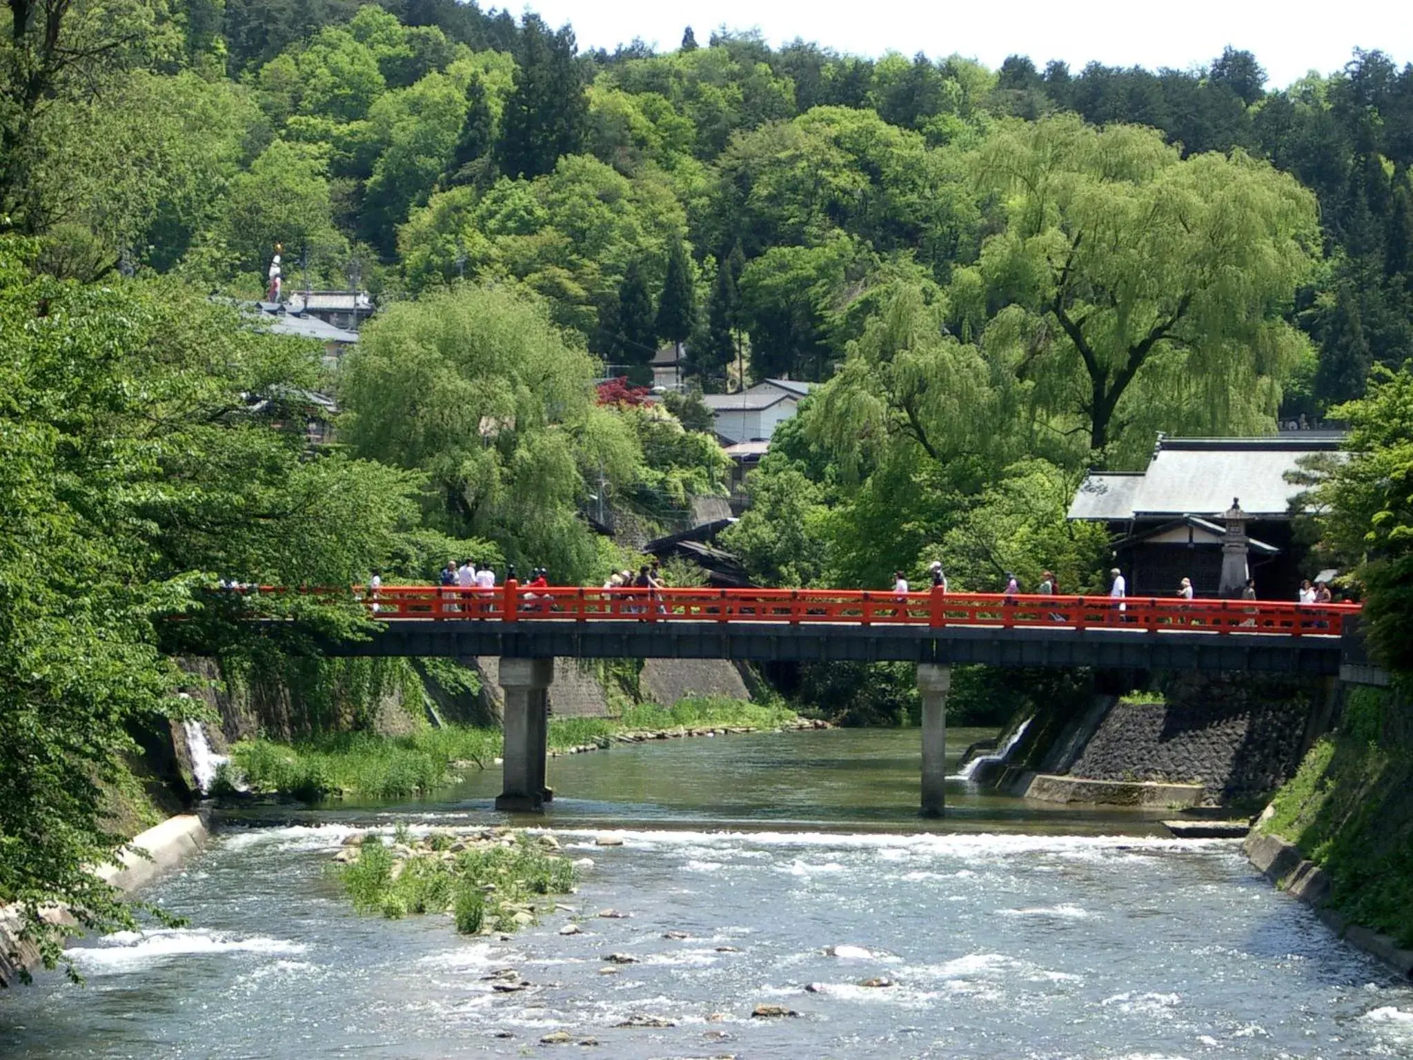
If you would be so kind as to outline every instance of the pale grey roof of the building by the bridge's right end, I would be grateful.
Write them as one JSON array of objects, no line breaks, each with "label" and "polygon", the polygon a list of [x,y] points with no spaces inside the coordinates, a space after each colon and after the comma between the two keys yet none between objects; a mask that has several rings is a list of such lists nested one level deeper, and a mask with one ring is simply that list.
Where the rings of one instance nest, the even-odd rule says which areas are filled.
[{"label": "pale grey roof of the building by the bridge's right end", "polygon": [[1123,522],[1184,514],[1219,516],[1241,500],[1258,519],[1284,519],[1304,486],[1286,479],[1300,459],[1337,452],[1342,435],[1290,431],[1267,438],[1160,438],[1143,472],[1091,472],[1070,519]]}]

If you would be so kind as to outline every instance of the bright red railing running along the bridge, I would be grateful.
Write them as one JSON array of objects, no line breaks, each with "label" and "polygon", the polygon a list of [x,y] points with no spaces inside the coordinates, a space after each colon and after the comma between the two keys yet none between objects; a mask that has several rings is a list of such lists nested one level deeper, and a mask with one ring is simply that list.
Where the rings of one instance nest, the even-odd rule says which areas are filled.
[{"label": "bright red railing running along the bridge", "polygon": [[425,622],[776,622],[856,626],[1034,626],[1146,632],[1340,636],[1356,603],[1003,596],[985,592],[856,589],[493,589],[384,585],[355,594],[379,620]]}]

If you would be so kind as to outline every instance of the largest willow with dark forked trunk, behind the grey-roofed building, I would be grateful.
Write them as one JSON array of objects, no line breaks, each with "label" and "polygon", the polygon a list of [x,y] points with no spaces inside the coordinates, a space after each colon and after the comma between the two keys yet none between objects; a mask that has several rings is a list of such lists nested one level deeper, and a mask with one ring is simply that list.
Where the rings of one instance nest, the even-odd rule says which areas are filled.
[{"label": "largest willow with dark forked trunk, behind the grey-roofed building", "polygon": [[971,167],[1005,228],[955,277],[954,322],[1012,349],[1057,431],[1136,455],[1154,430],[1273,425],[1307,348],[1290,304],[1318,253],[1293,177],[1070,114],[1006,123]]}]

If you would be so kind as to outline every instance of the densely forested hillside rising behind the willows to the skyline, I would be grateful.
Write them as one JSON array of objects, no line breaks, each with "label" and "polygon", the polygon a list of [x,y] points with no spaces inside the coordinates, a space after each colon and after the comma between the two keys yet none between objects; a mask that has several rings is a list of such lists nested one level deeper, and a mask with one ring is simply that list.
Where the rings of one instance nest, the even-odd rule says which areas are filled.
[{"label": "densely forested hillside rising behind the willows to the skyline", "polygon": [[[384,301],[514,280],[613,363],[667,331],[690,334],[708,380],[739,343],[755,375],[827,377],[890,278],[945,291],[964,341],[1033,308],[1036,277],[985,269],[1015,191],[996,164],[1068,112],[1154,129],[1174,161],[1269,161],[1313,192],[1318,233],[1296,235],[1318,264],[1280,277],[1276,308],[1318,358],[1262,373],[1286,413],[1362,393],[1410,346],[1413,71],[1376,51],[1280,88],[1231,49],[1157,72],[691,31],[674,52],[578,54],[571,27],[451,0],[8,7],[28,24],[6,35],[0,204],[61,276],[151,269],[253,294],[278,242],[295,281],[356,277]],[[1167,164],[1125,136],[1122,165]],[[691,305],[664,315],[678,243],[691,284],[670,298]]]}]

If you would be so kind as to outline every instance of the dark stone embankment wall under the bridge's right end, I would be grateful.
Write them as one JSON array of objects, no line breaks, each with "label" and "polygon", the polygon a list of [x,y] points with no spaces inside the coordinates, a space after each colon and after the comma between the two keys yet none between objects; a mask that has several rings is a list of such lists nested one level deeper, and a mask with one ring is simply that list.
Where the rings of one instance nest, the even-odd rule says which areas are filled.
[{"label": "dark stone embankment wall under the bridge's right end", "polygon": [[1265,796],[1300,765],[1323,693],[1245,677],[1173,681],[1167,702],[1115,702],[1067,772],[1201,784],[1217,803]]}]

